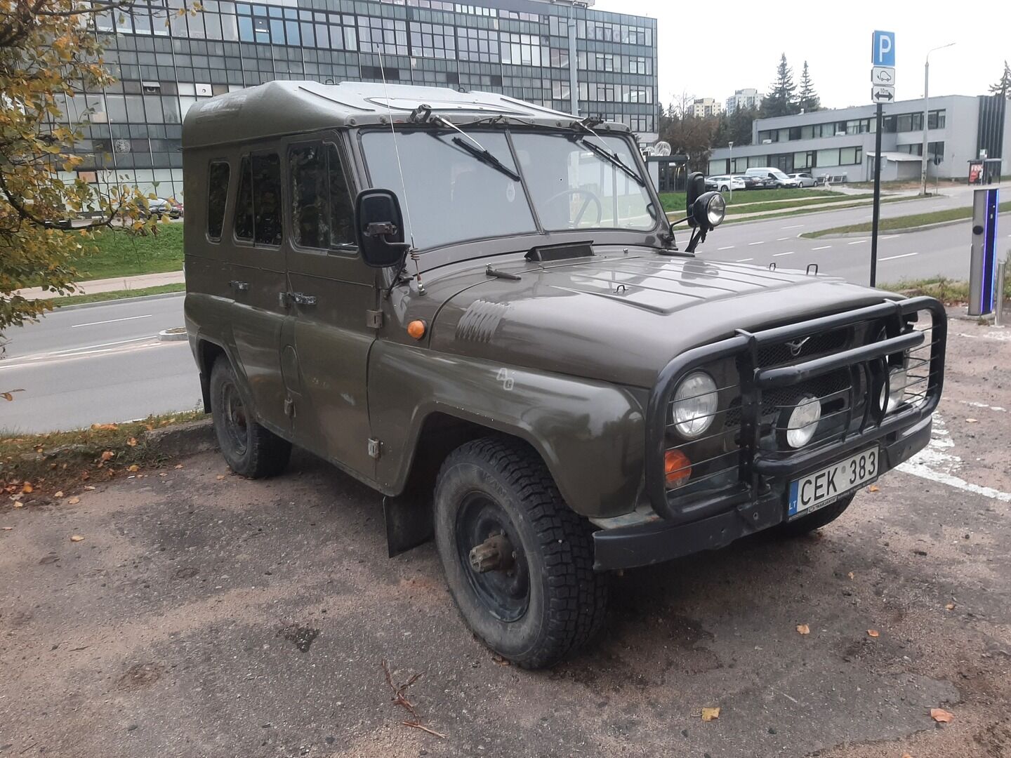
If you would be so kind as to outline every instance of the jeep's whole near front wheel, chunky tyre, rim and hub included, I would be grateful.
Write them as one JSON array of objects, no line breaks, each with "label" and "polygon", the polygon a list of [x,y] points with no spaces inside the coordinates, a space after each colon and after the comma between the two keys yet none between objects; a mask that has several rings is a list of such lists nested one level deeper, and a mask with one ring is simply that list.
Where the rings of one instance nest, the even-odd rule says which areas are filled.
[{"label": "jeep's whole near front wheel, chunky tyre, rim and hub included", "polygon": [[601,628],[607,583],[593,571],[589,527],[525,444],[484,438],[450,454],[435,533],[461,615],[503,658],[553,666]]}]

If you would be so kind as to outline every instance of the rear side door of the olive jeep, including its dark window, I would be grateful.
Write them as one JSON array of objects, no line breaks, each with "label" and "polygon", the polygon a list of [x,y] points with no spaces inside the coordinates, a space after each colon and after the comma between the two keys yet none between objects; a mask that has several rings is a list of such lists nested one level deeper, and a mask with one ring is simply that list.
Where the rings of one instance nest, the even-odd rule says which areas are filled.
[{"label": "rear side door of the olive jeep, including its dark window", "polygon": [[281,377],[281,329],[287,309],[284,189],[281,146],[239,157],[238,191],[228,286],[234,296],[233,337],[254,414],[268,429],[290,436],[290,407]]}]

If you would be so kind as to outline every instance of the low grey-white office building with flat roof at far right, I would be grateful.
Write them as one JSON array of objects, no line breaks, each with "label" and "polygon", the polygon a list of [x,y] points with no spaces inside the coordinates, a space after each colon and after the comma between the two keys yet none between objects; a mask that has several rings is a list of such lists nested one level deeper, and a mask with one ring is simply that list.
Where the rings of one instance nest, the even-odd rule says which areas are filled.
[{"label": "low grey-white office building with flat roof at far right", "polygon": [[[710,156],[709,173],[743,173],[770,166],[789,173],[874,179],[876,106],[818,110],[776,118],[758,118],[751,145],[719,148]],[[927,114],[928,178],[962,179],[981,151],[1002,159],[1001,174],[1011,174],[1011,118],[999,95],[947,95],[930,98]],[[919,179],[923,154],[923,100],[884,106],[882,177],[886,181]]]}]

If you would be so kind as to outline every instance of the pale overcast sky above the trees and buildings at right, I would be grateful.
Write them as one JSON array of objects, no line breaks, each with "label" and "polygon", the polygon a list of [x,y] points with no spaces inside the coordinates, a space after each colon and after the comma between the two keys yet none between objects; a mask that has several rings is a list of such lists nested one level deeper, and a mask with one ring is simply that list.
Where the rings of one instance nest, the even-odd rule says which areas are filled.
[{"label": "pale overcast sky above the trees and buildings at right", "polygon": [[795,83],[807,60],[822,105],[870,102],[870,34],[896,33],[896,99],[981,95],[1011,61],[1011,0],[596,0],[594,8],[657,19],[659,97],[676,93],[725,101],[735,89],[768,91],[779,54]]}]

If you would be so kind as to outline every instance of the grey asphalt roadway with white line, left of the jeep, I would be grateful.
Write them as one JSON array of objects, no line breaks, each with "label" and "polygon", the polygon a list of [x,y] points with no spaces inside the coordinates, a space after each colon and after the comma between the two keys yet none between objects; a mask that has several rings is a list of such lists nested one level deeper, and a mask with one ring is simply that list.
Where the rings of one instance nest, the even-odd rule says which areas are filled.
[{"label": "grey asphalt roadway with white line, left of the jeep", "polygon": [[163,343],[183,323],[182,295],[57,310],[7,333],[0,430],[51,432],[196,407],[200,383],[186,342]]}]

